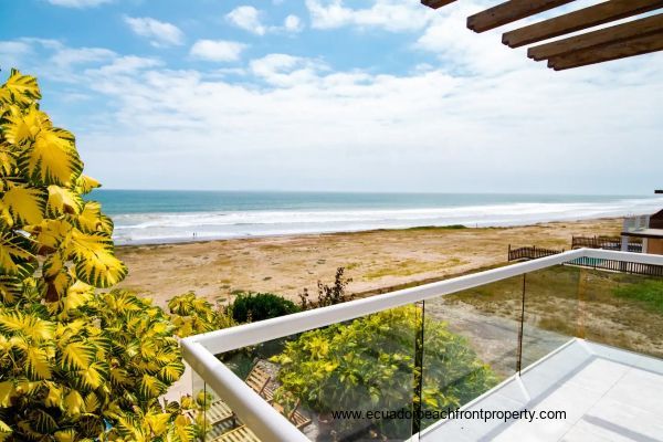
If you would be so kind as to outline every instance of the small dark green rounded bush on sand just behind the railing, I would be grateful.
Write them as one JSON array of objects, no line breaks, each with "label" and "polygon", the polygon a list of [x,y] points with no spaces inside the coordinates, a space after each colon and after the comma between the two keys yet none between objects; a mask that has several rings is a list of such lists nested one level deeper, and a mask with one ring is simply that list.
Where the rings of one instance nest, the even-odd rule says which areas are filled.
[{"label": "small dark green rounded bush on sand just behind the railing", "polygon": [[250,323],[299,312],[292,301],[272,293],[242,293],[231,306],[238,323]]}]

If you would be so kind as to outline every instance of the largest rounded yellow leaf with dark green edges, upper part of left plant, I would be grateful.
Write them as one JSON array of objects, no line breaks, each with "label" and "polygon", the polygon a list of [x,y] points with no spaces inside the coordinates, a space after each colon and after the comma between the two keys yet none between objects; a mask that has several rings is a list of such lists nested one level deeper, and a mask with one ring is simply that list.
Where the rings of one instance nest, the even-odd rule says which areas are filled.
[{"label": "largest rounded yellow leaf with dark green edges, upper part of left plant", "polygon": [[43,185],[70,187],[83,170],[74,136],[63,129],[40,130],[34,143],[19,158],[28,178]]}]

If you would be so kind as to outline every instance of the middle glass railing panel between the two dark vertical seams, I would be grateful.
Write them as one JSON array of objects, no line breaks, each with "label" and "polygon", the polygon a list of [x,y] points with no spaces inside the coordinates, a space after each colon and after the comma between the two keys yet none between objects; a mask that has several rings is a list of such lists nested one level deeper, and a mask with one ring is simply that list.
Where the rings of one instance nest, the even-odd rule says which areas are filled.
[{"label": "middle glass railing panel between the two dark vertical seams", "polygon": [[425,301],[421,428],[439,422],[425,440],[460,438],[448,413],[516,372],[522,297],[517,276]]}]

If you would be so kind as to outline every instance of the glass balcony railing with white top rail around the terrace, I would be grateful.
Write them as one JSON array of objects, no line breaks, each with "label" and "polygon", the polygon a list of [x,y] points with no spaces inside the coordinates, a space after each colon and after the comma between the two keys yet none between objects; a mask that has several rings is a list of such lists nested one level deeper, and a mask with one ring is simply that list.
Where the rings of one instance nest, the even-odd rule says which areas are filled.
[{"label": "glass balcony railing with white top rail around the terrace", "polygon": [[487,440],[516,423],[452,413],[547,403],[597,355],[663,373],[663,278],[587,260],[663,265],[577,250],[185,339],[201,440]]}]

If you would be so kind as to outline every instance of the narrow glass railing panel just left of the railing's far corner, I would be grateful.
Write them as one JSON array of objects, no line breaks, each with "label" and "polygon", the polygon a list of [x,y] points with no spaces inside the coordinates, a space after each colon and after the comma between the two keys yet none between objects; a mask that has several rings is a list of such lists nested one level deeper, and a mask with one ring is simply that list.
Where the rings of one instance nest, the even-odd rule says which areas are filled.
[{"label": "narrow glass railing panel just left of the railing's far corner", "polygon": [[556,265],[525,275],[522,370],[572,337],[582,336],[580,272],[575,266]]}]

